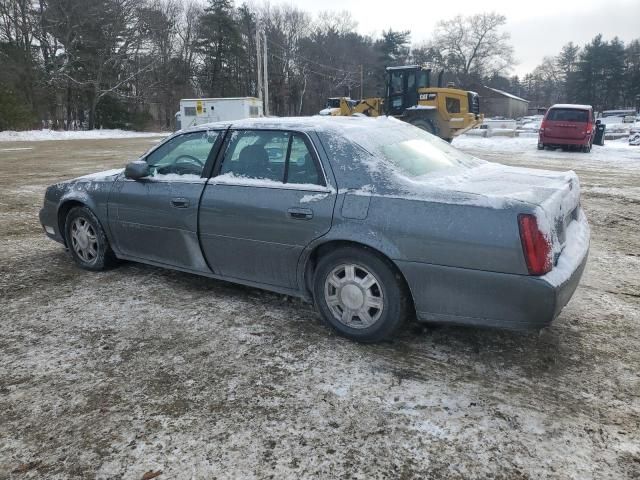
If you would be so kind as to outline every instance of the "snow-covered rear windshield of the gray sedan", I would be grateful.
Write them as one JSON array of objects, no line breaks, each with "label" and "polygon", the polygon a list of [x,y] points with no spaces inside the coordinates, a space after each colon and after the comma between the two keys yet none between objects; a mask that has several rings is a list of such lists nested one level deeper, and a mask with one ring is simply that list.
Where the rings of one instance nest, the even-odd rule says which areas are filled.
[{"label": "snow-covered rear windshield of the gray sedan", "polygon": [[410,178],[444,170],[469,169],[483,163],[444,140],[408,124],[372,131],[366,138],[358,137],[353,138],[358,145]]}]

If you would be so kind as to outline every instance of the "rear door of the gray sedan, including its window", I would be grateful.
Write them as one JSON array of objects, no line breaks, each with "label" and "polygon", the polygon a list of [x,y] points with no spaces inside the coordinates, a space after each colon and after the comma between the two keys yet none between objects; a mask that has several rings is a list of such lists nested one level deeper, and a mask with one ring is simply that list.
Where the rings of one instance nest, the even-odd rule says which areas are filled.
[{"label": "rear door of the gray sedan, including its window", "polygon": [[302,250],[331,227],[335,189],[306,134],[229,137],[200,205],[204,254],[226,277],[296,288]]}]

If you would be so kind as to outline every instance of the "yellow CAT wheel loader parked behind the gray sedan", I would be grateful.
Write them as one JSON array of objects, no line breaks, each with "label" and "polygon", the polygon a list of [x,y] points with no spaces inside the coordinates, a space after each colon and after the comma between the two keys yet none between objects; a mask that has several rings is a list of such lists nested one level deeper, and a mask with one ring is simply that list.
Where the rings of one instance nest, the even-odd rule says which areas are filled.
[{"label": "yellow CAT wheel loader parked behind the gray sedan", "polygon": [[[484,116],[475,92],[443,87],[444,71],[432,82],[432,70],[420,65],[387,67],[385,98],[333,97],[321,115],[391,115],[447,141],[479,126]],[[432,86],[435,83],[437,86]]]}]

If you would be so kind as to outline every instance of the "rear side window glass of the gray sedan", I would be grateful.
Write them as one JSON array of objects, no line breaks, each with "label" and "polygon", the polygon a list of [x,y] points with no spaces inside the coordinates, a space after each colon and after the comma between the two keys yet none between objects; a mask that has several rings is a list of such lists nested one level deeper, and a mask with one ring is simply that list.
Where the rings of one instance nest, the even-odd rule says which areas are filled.
[{"label": "rear side window glass of the gray sedan", "polygon": [[299,134],[245,130],[232,134],[220,175],[280,183],[324,185],[316,163]]}]

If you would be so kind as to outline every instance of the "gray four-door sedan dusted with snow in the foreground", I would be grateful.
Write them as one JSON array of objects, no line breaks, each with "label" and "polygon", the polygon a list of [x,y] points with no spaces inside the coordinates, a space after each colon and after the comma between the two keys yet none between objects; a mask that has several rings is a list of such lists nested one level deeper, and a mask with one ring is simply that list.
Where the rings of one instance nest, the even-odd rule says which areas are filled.
[{"label": "gray four-door sedan dusted with snow in the foreground", "polygon": [[542,328],[584,269],[573,172],[506,167],[388,118],[201,125],[47,189],[82,268],[131,260],[312,301],[358,341],[419,321]]}]

